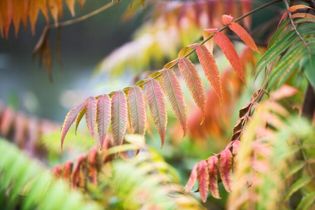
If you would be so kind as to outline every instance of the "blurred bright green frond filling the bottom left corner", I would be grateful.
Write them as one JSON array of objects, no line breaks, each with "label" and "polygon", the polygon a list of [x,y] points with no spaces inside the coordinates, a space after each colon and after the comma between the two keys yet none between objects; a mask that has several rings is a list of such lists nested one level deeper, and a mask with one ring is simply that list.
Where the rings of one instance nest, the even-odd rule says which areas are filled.
[{"label": "blurred bright green frond filling the bottom left corner", "polygon": [[4,139],[0,140],[0,156],[2,209],[101,209]]}]

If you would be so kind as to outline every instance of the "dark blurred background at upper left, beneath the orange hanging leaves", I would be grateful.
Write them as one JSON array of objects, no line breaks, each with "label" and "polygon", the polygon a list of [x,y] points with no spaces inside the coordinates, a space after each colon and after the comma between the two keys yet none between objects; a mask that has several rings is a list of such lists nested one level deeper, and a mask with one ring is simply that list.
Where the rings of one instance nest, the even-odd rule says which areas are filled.
[{"label": "dark blurred background at upper left, beneath the orange hanging leaves", "polygon": [[[83,11],[76,4],[74,18],[108,3],[101,0],[87,1]],[[98,62],[114,48],[130,40],[140,24],[140,16],[127,22],[121,20],[129,4],[129,1],[122,1],[85,21],[63,27],[62,67],[55,53],[57,30],[51,29],[52,83],[45,67],[39,67],[38,58],[32,59],[32,51],[46,25],[43,15],[39,15],[35,36],[32,36],[29,25],[25,31],[21,23],[16,38],[11,25],[9,40],[0,39],[0,100],[26,113],[61,123],[68,109],[88,96],[99,94],[95,92],[96,83],[102,84],[108,80],[104,76],[93,78],[91,75]],[[66,5],[63,5],[61,21],[70,19],[73,18]],[[111,87],[106,87],[108,90],[99,92],[112,91]]]}]

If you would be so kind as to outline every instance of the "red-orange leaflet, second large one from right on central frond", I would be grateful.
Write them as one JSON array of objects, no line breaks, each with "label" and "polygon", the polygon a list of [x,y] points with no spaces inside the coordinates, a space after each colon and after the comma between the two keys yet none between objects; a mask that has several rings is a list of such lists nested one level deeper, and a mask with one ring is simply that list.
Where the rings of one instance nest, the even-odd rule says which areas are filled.
[{"label": "red-orange leaflet, second large one from right on central frond", "polygon": [[222,32],[216,32],[214,34],[214,41],[221,48],[225,57],[228,59],[228,61],[234,68],[236,74],[242,79],[242,81],[246,85],[242,62],[232,42]]}]

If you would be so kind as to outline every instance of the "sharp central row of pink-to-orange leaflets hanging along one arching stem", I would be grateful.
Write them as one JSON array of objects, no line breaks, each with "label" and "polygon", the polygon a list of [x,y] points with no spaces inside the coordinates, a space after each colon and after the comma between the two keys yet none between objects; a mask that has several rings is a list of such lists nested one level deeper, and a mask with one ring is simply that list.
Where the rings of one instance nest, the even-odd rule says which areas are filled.
[{"label": "sharp central row of pink-to-orange leaflets hanging along one arching stem", "polygon": [[[230,19],[228,23],[225,21],[226,17]],[[232,23],[231,19],[232,17],[230,16],[223,16],[222,22],[230,25]],[[238,24],[237,26],[238,28],[242,28]],[[242,62],[231,41],[217,29],[206,29],[205,31],[212,35],[206,38],[204,42],[211,42],[213,37],[214,42],[218,44],[237,75],[245,83]],[[250,39],[250,47],[258,51],[254,41],[245,30],[241,30],[241,32],[238,31],[238,34]],[[246,44],[248,43],[249,41],[246,41]],[[188,124],[186,102],[178,78],[173,71],[173,67],[178,64],[184,82],[202,113],[202,123],[206,109],[206,94],[196,67],[188,59],[188,55],[193,51],[196,51],[204,74],[218,96],[220,104],[222,104],[221,79],[214,57],[204,45],[195,43],[188,47],[184,47],[179,52],[177,59],[167,63],[161,71],[151,74],[148,79],[139,81],[134,86],[127,87],[120,91],[104,94],[102,96],[90,97],[82,104],[71,109],[62,125],[61,149],[65,135],[70,126],[76,121],[77,128],[83,115],[86,115],[87,126],[92,136],[94,136],[94,128],[97,124],[101,147],[110,122],[115,145],[122,144],[128,121],[132,133],[144,135],[146,126],[145,99],[142,92],[144,87],[151,117],[160,134],[162,147],[164,145],[167,128],[167,112],[164,94],[167,96],[171,108],[182,126],[184,132],[183,137],[185,137]]]}]

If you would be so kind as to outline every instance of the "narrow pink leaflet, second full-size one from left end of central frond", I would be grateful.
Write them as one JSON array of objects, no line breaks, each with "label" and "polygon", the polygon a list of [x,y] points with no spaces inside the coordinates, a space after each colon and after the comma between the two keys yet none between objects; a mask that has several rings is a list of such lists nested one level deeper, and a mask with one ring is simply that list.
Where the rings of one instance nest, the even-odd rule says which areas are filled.
[{"label": "narrow pink leaflet, second full-size one from left end of central frond", "polygon": [[86,122],[92,138],[94,137],[94,129],[96,123],[96,106],[96,98],[90,97],[86,102]]}]

